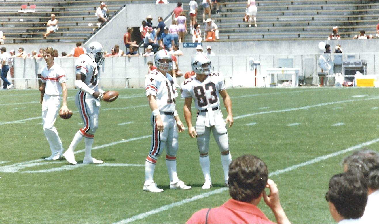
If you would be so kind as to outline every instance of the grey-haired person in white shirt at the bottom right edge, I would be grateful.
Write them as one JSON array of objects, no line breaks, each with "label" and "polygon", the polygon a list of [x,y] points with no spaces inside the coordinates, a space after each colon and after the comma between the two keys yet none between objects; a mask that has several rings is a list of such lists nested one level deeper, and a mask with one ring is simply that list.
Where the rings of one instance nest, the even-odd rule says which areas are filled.
[{"label": "grey-haired person in white shirt at the bottom right edge", "polygon": [[379,219],[379,153],[372,150],[359,150],[347,156],[344,171],[363,177],[368,186],[368,200],[365,212],[360,219],[362,223],[376,223]]}]

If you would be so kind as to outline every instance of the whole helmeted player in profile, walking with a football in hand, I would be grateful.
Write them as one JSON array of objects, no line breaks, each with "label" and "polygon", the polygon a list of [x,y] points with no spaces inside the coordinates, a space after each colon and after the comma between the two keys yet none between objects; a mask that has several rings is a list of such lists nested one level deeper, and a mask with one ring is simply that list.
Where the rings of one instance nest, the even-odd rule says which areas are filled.
[{"label": "whole helmeted player in profile, walking with a football in hand", "polygon": [[76,164],[74,150],[79,142],[85,139],[84,164],[102,163],[102,160],[92,158],[91,150],[94,142],[94,134],[98,127],[100,99],[104,93],[99,88],[99,65],[103,63],[103,46],[99,42],[88,45],[88,54],[82,54],[75,61],[76,80],[75,88],[79,91],[75,97],[76,106],[79,109],[84,126],[75,134],[69,148],[63,156],[71,164]]}]

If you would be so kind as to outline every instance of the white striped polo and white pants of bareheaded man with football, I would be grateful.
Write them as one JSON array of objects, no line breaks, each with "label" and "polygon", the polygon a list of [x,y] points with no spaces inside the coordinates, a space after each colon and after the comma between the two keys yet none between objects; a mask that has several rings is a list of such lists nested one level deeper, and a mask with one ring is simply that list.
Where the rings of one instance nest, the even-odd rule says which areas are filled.
[{"label": "white striped polo and white pants of bareheaded man with football", "polygon": [[41,82],[45,84],[45,94],[42,100],[42,126],[52,153],[55,151],[63,152],[62,141],[58,131],[54,126],[61,104],[62,86],[66,82],[64,70],[58,64],[47,69],[42,69]]}]

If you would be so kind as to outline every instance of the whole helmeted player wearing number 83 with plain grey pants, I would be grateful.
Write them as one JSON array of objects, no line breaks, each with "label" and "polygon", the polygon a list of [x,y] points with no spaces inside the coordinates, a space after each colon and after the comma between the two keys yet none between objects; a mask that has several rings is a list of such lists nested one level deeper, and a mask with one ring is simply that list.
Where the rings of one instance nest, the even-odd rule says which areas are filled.
[{"label": "whole helmeted player wearing number 83 with plain grey pants", "polygon": [[[195,55],[191,63],[196,77],[186,79],[182,83],[181,92],[184,98],[184,117],[188,125],[188,134],[192,138],[196,137],[199,148],[199,161],[205,178],[202,189],[209,189],[212,186],[208,156],[211,131],[221,151],[224,180],[225,185],[228,186],[229,164],[232,162],[232,156],[229,152],[226,124],[229,122],[229,128],[233,125],[232,101],[225,88],[224,76],[219,72],[211,72],[211,61],[205,55]],[[226,122],[220,110],[220,95],[228,113]],[[195,127],[191,122],[192,99],[198,110]]]}]

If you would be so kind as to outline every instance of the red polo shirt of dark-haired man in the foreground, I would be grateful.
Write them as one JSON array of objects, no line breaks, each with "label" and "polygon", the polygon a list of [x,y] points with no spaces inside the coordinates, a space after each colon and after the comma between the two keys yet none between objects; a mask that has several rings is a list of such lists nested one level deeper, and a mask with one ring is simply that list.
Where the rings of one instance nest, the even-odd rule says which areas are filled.
[{"label": "red polo shirt of dark-haired man in the foreground", "polygon": [[[204,208],[194,213],[188,219],[187,224],[205,224],[207,211],[209,208]],[[255,205],[246,202],[240,202],[234,199],[229,199],[223,205],[217,208],[211,208],[208,213],[209,224],[223,223],[256,223],[256,224],[274,224],[265,214]]]}]

